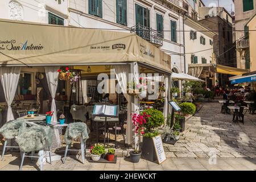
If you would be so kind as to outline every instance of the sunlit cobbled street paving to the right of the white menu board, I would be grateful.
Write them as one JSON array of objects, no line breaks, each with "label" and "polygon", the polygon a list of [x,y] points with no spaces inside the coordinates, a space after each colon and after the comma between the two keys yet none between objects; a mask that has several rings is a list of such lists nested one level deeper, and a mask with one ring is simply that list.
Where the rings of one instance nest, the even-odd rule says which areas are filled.
[{"label": "sunlit cobbled street paving to the right of the white menu board", "polygon": [[232,122],[233,114],[221,114],[219,103],[204,103],[185,122],[175,145],[164,144],[172,158],[256,158],[256,115],[246,113],[245,123]]}]

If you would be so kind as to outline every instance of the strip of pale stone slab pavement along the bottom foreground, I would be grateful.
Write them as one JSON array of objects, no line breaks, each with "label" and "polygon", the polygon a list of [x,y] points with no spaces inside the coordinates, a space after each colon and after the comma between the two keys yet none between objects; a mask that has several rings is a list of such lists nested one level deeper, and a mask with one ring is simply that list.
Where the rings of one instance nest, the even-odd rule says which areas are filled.
[{"label": "strip of pale stone slab pavement along the bottom foreground", "polygon": [[[20,164],[19,154],[17,156],[6,155],[5,159],[0,161],[0,171],[18,171]],[[81,157],[80,157],[81,158]],[[36,162],[30,159],[24,160],[23,171],[39,170]],[[118,158],[116,164],[89,163],[82,164],[75,155],[68,157],[65,164],[61,160],[46,163],[46,171],[255,171],[256,159],[217,159],[216,164],[210,164],[209,158],[168,158],[162,164],[156,164],[144,159],[134,164],[129,158]]]}]

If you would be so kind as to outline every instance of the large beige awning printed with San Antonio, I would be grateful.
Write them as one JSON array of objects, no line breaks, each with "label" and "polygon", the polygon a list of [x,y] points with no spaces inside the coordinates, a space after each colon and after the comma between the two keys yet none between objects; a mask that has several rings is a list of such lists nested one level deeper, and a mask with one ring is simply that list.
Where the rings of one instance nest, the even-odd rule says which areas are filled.
[{"label": "large beige awning printed with San Antonio", "polygon": [[136,34],[0,19],[0,66],[138,61],[171,73],[171,57]]}]

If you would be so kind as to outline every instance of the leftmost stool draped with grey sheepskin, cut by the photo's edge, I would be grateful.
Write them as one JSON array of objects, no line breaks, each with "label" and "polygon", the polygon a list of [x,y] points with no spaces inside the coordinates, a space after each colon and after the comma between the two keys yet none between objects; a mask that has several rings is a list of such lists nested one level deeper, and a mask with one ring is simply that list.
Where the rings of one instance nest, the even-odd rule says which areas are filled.
[{"label": "leftmost stool draped with grey sheepskin, cut by the photo's edge", "polygon": [[[0,134],[5,137],[5,143],[3,143],[3,152],[2,152],[2,158],[5,155],[6,148],[11,148],[11,151],[13,148],[19,148],[18,146],[13,146],[13,139],[18,137],[19,133],[22,133],[24,129],[26,129],[26,121],[24,119],[16,119],[13,121],[9,121],[5,123],[0,129]],[[7,143],[10,143],[10,146],[7,146]]]}]

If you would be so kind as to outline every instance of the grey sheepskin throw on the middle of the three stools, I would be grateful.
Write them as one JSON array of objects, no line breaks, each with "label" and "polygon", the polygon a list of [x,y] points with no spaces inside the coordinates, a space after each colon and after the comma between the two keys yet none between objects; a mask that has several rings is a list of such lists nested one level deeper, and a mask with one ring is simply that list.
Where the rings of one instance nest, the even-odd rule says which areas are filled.
[{"label": "grey sheepskin throw on the middle of the three stools", "polygon": [[31,126],[27,127],[23,133],[18,135],[16,142],[23,152],[44,150],[52,144],[53,129],[49,126]]}]

